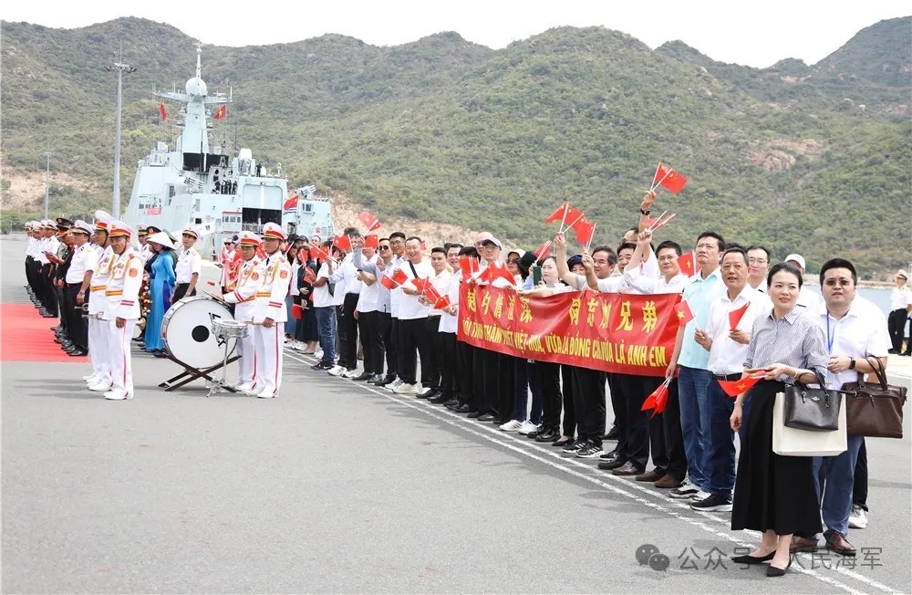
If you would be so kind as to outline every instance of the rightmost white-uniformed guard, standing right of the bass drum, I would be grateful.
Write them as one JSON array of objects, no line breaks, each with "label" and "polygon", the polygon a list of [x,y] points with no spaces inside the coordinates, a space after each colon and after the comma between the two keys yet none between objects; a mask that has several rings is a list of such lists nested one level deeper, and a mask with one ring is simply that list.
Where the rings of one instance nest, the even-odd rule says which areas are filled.
[{"label": "rightmost white-uniformed guard, standing right of the bass drum", "polygon": [[256,292],[254,306],[254,352],[256,381],[250,391],[261,399],[272,399],[282,384],[282,348],[285,339],[285,296],[291,284],[291,265],[282,251],[285,232],[282,227],[267,223],[263,226],[263,285]]}]

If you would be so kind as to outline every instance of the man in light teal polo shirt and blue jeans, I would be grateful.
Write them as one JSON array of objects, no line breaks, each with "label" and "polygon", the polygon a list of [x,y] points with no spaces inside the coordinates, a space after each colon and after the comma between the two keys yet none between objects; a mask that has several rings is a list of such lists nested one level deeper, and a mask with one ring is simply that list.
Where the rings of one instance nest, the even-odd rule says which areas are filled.
[{"label": "man in light teal polo shirt and blue jeans", "polygon": [[694,340],[696,329],[705,329],[710,317],[710,306],[725,293],[725,284],[719,273],[719,259],[725,251],[725,240],[715,232],[703,232],[697,238],[697,274],[684,285],[684,301],[693,319],[678,329],[675,351],[665,375],[678,374],[678,396],[681,409],[681,433],[684,434],[684,452],[687,454],[688,479],[670,491],[673,498],[699,500],[709,496],[702,486],[710,476],[705,456],[710,437],[710,416],[706,404],[706,389],[712,380],[707,365],[710,352]]}]

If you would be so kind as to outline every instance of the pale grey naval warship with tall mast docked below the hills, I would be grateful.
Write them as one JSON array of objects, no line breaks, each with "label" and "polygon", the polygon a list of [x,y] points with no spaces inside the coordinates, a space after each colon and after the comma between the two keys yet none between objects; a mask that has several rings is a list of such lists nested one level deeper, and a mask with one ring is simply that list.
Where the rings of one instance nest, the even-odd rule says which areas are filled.
[{"label": "pale grey naval warship with tall mast docked below the hills", "polygon": [[210,256],[224,238],[241,231],[260,234],[266,223],[281,224],[288,234],[333,235],[332,205],[328,198],[316,197],[314,186],[289,195],[281,163],[267,170],[250,149],[233,151],[224,133],[210,144],[210,120],[223,120],[232,93],[209,94],[202,80],[202,47],[196,48],[196,76],[184,92],[154,95],[181,104],[175,124],[180,134],[173,150],[158,141],[140,160],[127,223],[156,225],[171,233],[196,225],[202,232],[197,248]]}]

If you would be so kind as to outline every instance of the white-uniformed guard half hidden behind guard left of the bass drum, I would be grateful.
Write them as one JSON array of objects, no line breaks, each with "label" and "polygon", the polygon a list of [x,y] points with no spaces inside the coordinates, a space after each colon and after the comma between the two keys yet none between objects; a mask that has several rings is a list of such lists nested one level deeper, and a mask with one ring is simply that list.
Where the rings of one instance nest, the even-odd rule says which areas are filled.
[{"label": "white-uniformed guard half hidden behind guard left of the bass drum", "polygon": [[92,373],[83,377],[90,391],[107,392],[111,390],[111,364],[108,353],[108,322],[104,319],[108,297],[108,279],[114,266],[114,251],[108,241],[110,224],[114,217],[98,211],[95,214],[95,236],[93,243],[98,249],[98,264],[92,273],[92,284],[88,286],[88,360],[92,363]]}]

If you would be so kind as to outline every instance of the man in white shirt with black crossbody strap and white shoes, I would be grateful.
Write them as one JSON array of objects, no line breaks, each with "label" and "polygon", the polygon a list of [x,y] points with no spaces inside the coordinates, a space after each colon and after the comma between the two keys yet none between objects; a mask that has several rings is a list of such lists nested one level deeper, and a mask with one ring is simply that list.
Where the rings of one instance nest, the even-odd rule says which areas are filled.
[{"label": "man in white shirt with black crossbody strap and white shoes", "polygon": [[[430,350],[428,344],[428,313],[430,307],[419,300],[419,291],[412,281],[416,278],[433,277],[434,269],[430,260],[421,253],[421,238],[411,236],[405,242],[405,258],[397,267],[406,274],[408,281],[401,286],[399,302],[399,379],[402,384],[393,389],[397,394],[417,395],[421,389],[417,384],[418,357],[421,359],[421,384],[431,385]],[[395,275],[396,269],[393,270]]]}]

